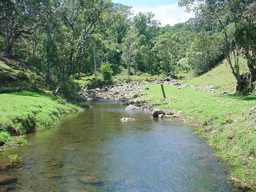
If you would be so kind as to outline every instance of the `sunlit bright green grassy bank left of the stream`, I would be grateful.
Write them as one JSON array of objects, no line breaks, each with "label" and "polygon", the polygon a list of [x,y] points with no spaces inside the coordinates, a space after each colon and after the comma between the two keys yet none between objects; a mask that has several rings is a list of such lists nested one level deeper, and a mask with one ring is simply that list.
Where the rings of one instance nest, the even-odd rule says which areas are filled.
[{"label": "sunlit bright green grassy bank left of the stream", "polygon": [[66,114],[78,111],[78,107],[50,94],[17,92],[0,94],[0,143],[25,144],[19,136],[51,127]]}]

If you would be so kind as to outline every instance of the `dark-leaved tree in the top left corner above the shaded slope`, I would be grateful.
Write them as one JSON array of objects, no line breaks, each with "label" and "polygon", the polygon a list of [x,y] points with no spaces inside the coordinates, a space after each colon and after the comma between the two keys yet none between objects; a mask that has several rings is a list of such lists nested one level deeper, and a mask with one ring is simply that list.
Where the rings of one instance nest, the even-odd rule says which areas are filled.
[{"label": "dark-leaved tree in the top left corner above the shaded slope", "polygon": [[39,12],[43,1],[0,1],[0,35],[5,39],[2,57],[12,57],[13,46],[21,37],[31,35],[39,26]]}]

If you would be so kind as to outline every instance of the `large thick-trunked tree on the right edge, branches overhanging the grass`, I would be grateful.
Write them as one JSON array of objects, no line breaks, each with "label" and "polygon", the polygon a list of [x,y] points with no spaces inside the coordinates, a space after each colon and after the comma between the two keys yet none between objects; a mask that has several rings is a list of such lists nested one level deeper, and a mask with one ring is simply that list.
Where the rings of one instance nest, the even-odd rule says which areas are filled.
[{"label": "large thick-trunked tree on the right edge, branches overhanging the grass", "polygon": [[[180,0],[179,4],[195,11],[197,18],[201,19],[201,21],[207,24],[210,23],[210,25],[214,23],[223,32],[227,61],[237,81],[236,90],[237,92],[251,92],[255,87],[254,82],[256,81],[256,63],[253,59],[255,41],[253,41],[254,33],[247,33],[247,29],[255,29],[255,2],[239,0]],[[242,52],[245,54],[247,66],[250,70],[246,75],[241,75],[240,72],[239,57]],[[250,56],[249,54],[246,56],[246,52]]]}]

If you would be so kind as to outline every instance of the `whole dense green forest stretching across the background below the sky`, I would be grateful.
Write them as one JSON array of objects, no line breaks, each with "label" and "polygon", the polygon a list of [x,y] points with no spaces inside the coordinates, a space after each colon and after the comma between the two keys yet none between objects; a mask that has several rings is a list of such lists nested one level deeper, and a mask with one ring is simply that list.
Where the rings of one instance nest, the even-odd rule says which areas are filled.
[{"label": "whole dense green forest stretching across the background below the sky", "polygon": [[256,2],[180,0],[179,6],[195,18],[163,27],[154,13],[133,15],[132,7],[108,0],[1,1],[1,58],[35,68],[53,94],[83,76],[109,81],[122,70],[126,78],[198,76],[227,59],[236,91],[253,92]]}]

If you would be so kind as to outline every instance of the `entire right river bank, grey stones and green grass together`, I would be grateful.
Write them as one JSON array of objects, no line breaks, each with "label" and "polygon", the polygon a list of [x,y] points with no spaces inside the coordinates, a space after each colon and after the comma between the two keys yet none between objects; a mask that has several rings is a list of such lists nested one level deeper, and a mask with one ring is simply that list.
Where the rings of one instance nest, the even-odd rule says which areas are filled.
[{"label": "entire right river bank, grey stones and green grass together", "polygon": [[[163,99],[159,83],[164,83]],[[171,111],[166,117],[195,125],[193,131],[203,137],[231,167],[230,180],[238,187],[256,186],[256,132],[254,96],[239,97],[221,93],[214,87],[182,85],[176,81],[131,83],[87,90],[84,99],[121,100],[132,110]],[[178,115],[177,115],[178,114]],[[243,188],[242,190],[245,190]],[[251,190],[250,189],[250,190]]]}]

